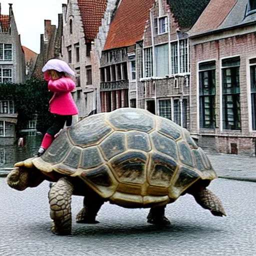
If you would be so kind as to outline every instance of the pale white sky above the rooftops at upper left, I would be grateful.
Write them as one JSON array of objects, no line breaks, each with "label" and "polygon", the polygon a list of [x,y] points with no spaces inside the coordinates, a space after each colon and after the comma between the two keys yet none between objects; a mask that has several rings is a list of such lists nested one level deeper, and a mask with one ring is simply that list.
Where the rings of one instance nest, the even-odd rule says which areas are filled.
[{"label": "pale white sky above the rooftops at upper left", "polygon": [[44,19],[50,19],[51,24],[57,25],[58,13],[62,13],[62,3],[67,3],[67,0],[0,0],[0,3],[1,14],[9,14],[8,3],[12,3],[21,44],[39,53]]}]

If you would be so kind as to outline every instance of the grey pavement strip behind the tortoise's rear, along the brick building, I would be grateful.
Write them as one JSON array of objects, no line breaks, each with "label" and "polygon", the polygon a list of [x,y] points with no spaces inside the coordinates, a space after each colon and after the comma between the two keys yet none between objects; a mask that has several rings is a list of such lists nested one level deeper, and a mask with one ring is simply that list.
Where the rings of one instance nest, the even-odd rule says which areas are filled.
[{"label": "grey pavement strip behind the tortoise's rear, along the brick building", "polygon": [[207,154],[219,177],[256,182],[256,157]]}]

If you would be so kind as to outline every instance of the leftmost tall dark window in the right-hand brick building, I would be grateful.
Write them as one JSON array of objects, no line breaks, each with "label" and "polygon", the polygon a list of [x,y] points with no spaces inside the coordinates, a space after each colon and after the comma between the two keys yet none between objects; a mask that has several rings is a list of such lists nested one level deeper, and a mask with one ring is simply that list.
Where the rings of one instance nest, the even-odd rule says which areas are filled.
[{"label": "leftmost tall dark window in the right-hand brick building", "polygon": [[215,61],[199,63],[200,128],[215,128]]}]

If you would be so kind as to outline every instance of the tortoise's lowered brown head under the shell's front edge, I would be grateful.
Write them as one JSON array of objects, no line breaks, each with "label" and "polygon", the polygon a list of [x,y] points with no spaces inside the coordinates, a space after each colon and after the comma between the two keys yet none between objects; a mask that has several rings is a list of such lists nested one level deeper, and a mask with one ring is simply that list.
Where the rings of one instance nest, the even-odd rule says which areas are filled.
[{"label": "tortoise's lowered brown head under the shell's front edge", "polygon": [[41,172],[36,168],[24,166],[13,169],[6,177],[7,184],[16,189],[24,190],[27,187],[35,187],[43,181]]}]

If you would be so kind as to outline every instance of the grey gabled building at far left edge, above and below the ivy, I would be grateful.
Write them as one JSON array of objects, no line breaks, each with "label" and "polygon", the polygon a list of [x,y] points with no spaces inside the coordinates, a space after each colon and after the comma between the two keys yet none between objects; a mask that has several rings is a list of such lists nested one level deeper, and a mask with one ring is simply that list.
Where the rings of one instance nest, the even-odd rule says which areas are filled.
[{"label": "grey gabled building at far left edge, above and below the ivy", "polygon": [[[0,5],[0,82],[25,81],[25,60],[17,31],[12,4],[9,15],[1,14]],[[0,145],[13,144],[17,114],[13,101],[0,95]]]}]

